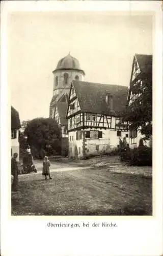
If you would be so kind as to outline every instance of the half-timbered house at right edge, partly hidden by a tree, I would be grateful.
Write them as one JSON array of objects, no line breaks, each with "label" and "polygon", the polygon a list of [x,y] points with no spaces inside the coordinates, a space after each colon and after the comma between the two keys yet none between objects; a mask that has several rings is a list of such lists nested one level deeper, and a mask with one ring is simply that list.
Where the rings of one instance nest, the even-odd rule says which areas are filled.
[{"label": "half-timbered house at right edge, partly hidden by a tree", "polygon": [[[152,55],[135,54],[132,62],[127,108],[132,108],[134,104],[140,106],[142,95],[145,93],[146,87],[149,86],[152,90]],[[140,129],[129,130],[130,147],[137,147],[143,137]],[[144,144],[149,145],[150,140],[144,140]]]}]

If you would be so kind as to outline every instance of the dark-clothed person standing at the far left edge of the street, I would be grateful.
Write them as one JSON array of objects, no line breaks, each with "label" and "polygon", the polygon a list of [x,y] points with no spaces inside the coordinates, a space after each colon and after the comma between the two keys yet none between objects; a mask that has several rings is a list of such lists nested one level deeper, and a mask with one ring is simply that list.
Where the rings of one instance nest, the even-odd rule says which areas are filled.
[{"label": "dark-clothed person standing at the far left edge of the street", "polygon": [[11,174],[13,175],[14,179],[12,182],[12,191],[17,191],[17,185],[18,185],[18,164],[16,161],[16,158],[18,157],[17,153],[13,154],[13,157],[11,159]]}]

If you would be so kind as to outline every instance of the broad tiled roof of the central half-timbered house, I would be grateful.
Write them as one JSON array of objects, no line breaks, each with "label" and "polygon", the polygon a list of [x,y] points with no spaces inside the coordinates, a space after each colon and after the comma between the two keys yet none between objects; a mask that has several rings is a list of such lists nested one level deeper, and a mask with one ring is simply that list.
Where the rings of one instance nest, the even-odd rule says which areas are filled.
[{"label": "broad tiled roof of the central half-timbered house", "polygon": [[[120,114],[127,103],[128,87],[73,80],[72,84],[82,112]],[[113,96],[113,111],[105,101],[106,94]]]}]

